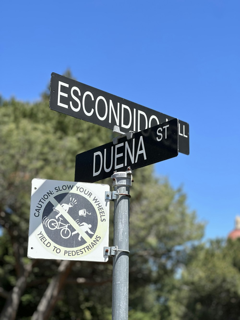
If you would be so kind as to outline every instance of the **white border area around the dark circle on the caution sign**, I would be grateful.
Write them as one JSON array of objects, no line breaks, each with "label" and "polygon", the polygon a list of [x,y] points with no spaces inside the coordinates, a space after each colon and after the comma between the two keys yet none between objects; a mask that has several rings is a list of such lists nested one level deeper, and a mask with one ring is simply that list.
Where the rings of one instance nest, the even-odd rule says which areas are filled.
[{"label": "white border area around the dark circle on the caution sign", "polygon": [[[99,227],[100,214],[98,215],[98,228],[95,232],[95,235],[97,231],[100,230],[101,239],[99,239],[100,240],[99,243],[96,244],[96,248],[92,248],[90,245],[91,250],[86,250],[86,246],[88,245],[88,240],[87,240],[87,244],[82,245],[80,247],[64,248],[55,244],[51,239],[49,239],[49,237],[44,232],[44,228],[42,226],[42,212],[44,210],[44,207],[50,201],[50,198],[51,197],[53,198],[56,195],[56,193],[53,193],[53,195],[51,195],[51,192],[55,190],[55,188],[58,188],[59,186],[65,186],[65,185],[74,185],[74,187],[72,190],[61,190],[58,192],[58,194],[79,193],[80,195],[84,196],[90,201],[89,196],[88,197],[85,196],[84,192],[82,193],[77,192],[75,187],[77,186],[78,190],[80,190],[81,188],[84,188],[84,190],[85,189],[89,190],[93,196],[97,196],[98,200],[101,203],[102,208],[104,209],[104,215],[105,215],[104,219],[106,219],[106,221],[104,221],[103,222],[104,225],[102,225],[103,231],[101,231],[101,228]],[[105,192],[106,191],[109,192],[109,190],[110,190],[110,187],[109,185],[106,185],[106,184],[33,179],[32,193],[31,193],[31,206],[30,206],[30,219],[29,219],[28,258],[107,262],[108,256],[104,256],[104,247],[108,246],[108,241],[109,241],[109,200],[105,199]],[[44,201],[45,198],[47,199]],[[36,205],[39,203],[39,199],[42,199],[43,205],[40,210],[38,209],[38,212],[39,212],[38,214],[38,212],[36,211]],[[97,212],[96,205],[94,205],[93,202],[92,204]],[[87,236],[87,239],[88,238],[89,237]],[[89,240],[91,241],[90,238]],[[46,245],[49,245],[49,247]],[[55,246],[55,249],[54,249],[54,246]],[[57,248],[60,250],[57,250]],[[62,251],[63,249],[66,249],[68,253],[65,253],[64,255]]]}]

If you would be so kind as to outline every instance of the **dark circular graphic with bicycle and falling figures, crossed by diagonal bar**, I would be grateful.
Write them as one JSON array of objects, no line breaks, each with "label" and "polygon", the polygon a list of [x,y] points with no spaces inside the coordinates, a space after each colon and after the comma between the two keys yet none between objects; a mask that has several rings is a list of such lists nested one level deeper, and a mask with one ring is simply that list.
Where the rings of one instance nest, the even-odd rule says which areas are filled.
[{"label": "dark circular graphic with bicycle and falling figures, crossed by diagonal bar", "polygon": [[94,238],[98,215],[87,197],[71,192],[54,199],[59,205],[50,200],[42,214],[42,225],[50,240],[61,247],[76,248]]}]

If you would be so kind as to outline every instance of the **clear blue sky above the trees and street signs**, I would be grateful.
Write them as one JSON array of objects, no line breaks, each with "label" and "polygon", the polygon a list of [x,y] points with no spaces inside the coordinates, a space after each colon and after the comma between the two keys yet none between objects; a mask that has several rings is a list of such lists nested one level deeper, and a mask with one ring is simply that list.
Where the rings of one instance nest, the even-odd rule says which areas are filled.
[{"label": "clear blue sky above the trees and street signs", "polygon": [[0,94],[38,100],[51,73],[70,68],[188,122],[190,155],[156,164],[156,175],[183,187],[205,238],[226,237],[240,214],[239,13],[239,0],[5,1]]}]

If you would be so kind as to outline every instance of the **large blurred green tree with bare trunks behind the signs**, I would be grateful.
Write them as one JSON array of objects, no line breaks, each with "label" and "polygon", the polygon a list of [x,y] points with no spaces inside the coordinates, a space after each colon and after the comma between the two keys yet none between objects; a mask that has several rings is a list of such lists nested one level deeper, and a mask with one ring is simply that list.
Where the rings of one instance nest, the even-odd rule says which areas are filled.
[{"label": "large blurred green tree with bare trunks behind the signs", "polygon": [[[69,71],[66,76],[72,77]],[[111,259],[30,260],[27,243],[31,180],[73,181],[76,154],[111,141],[112,132],[51,111],[47,90],[35,103],[1,99],[0,136],[0,319],[111,319]],[[189,261],[189,243],[202,238],[204,226],[189,212],[181,188],[156,178],[152,166],[133,175],[129,319],[168,319],[171,313],[172,319],[183,319],[185,314],[172,307],[175,275]],[[110,179],[101,183],[111,186]],[[112,221],[113,208],[110,245]]]}]

